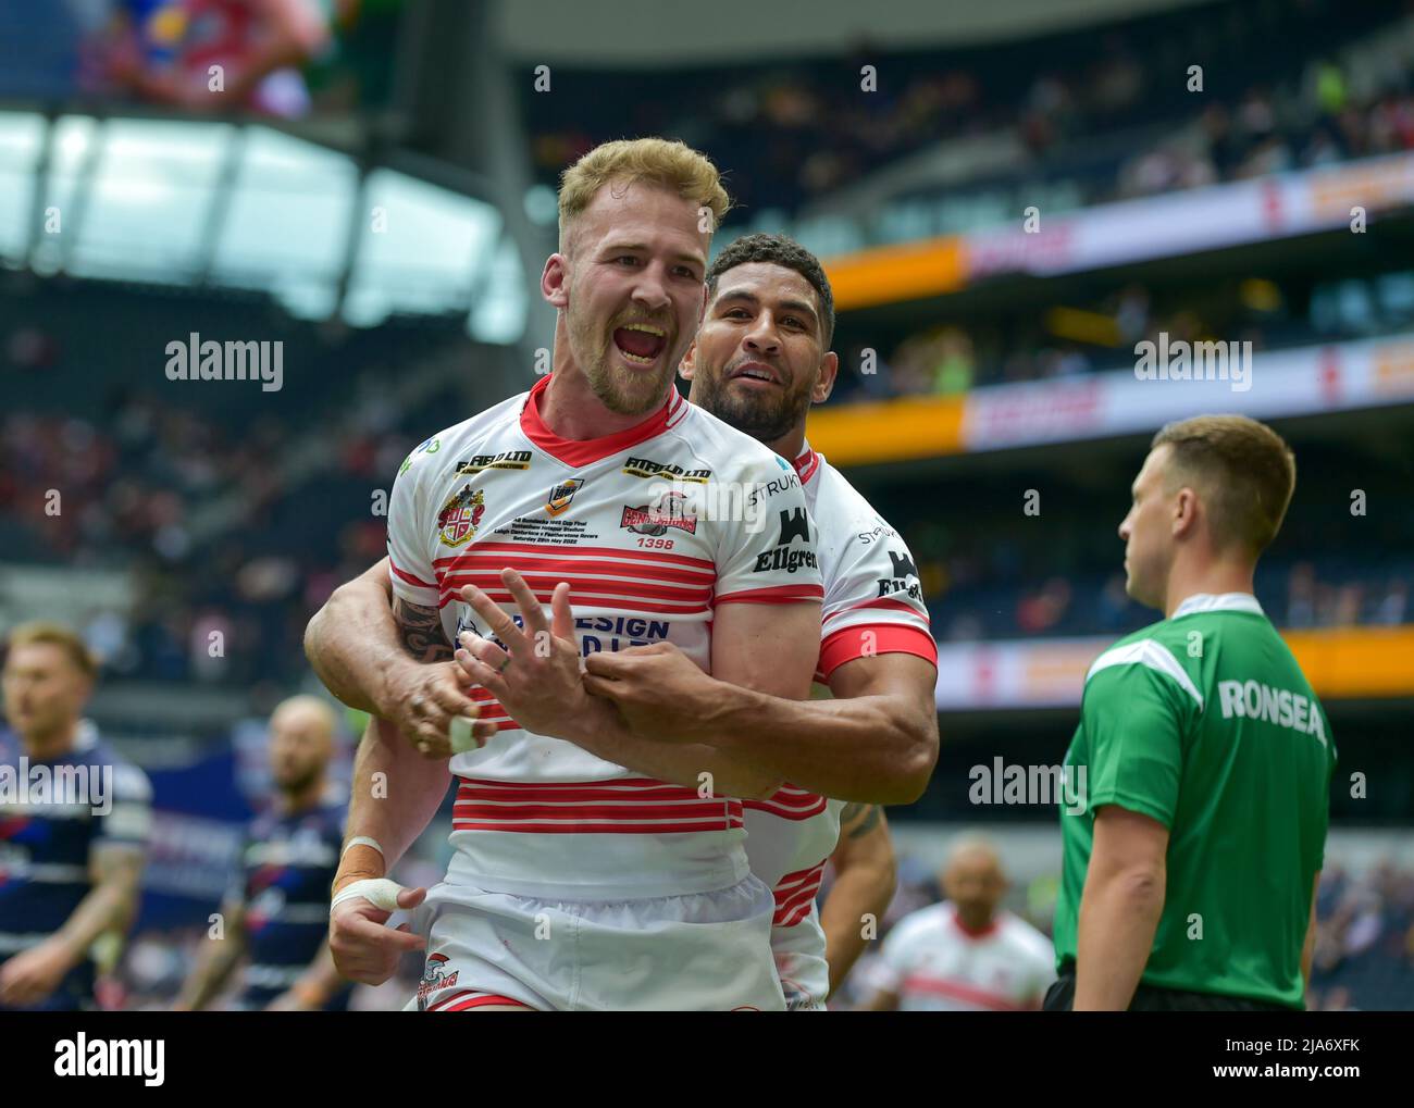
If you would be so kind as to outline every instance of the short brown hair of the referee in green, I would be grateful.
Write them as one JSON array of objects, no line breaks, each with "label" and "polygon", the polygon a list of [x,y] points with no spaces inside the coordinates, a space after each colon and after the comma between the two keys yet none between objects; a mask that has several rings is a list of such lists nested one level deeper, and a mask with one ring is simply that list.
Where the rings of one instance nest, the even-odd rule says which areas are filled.
[{"label": "short brown hair of the referee in green", "polygon": [[1246,416],[1195,416],[1164,427],[1151,449],[1172,447],[1168,486],[1193,479],[1213,544],[1256,558],[1281,530],[1297,488],[1297,458],[1267,424]]}]

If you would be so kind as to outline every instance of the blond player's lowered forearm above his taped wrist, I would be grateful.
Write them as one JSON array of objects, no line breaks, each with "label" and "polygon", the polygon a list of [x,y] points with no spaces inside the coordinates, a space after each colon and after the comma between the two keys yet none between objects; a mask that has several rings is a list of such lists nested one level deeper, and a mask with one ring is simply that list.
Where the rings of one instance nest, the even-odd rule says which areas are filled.
[{"label": "blond player's lowered forearm above his taped wrist", "polygon": [[427,830],[450,780],[445,762],[421,758],[392,724],[370,719],[354,759],[345,841],[365,835],[383,852],[363,844],[351,847],[339,859],[334,889],[359,878],[386,876]]}]

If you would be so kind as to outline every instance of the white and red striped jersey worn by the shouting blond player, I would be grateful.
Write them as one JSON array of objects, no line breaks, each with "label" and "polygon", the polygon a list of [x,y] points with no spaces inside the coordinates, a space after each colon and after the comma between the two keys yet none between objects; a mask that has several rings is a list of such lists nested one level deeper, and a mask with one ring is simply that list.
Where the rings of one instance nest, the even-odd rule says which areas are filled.
[{"label": "white and red striped jersey worn by the shouting blond player", "polygon": [[[499,578],[506,567],[546,606],[570,582],[584,653],[672,642],[708,670],[717,605],[822,599],[805,490],[766,447],[676,390],[636,427],[563,440],[540,418],[547,384],[434,435],[399,471],[393,591],[440,608],[450,642],[489,633],[460,599],[464,585],[519,620]],[[747,876],[740,800],[704,798],[525,731],[477,694],[499,733],[451,760],[461,780],[448,880],[602,900]]]}]

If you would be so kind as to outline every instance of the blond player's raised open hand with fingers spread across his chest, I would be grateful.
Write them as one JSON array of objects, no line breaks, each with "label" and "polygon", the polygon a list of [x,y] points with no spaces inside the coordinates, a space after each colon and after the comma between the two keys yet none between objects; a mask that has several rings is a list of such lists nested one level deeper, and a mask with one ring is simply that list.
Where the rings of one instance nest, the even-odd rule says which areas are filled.
[{"label": "blond player's raised open hand with fingers spread across his chest", "polygon": [[526,731],[571,738],[594,708],[584,688],[580,647],[574,640],[570,585],[561,581],[554,587],[550,596],[551,619],[547,620],[520,574],[502,570],[501,581],[515,598],[523,626],[518,627],[479,588],[467,585],[461,598],[485,620],[491,633],[505,643],[505,649],[489,639],[464,633],[457,663],[467,677],[499,700]]}]

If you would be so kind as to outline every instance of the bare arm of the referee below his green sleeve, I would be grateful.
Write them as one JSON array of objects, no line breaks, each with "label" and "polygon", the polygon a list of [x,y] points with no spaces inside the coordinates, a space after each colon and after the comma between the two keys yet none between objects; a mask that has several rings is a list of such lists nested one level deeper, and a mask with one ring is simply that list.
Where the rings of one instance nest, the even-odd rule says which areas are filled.
[{"label": "bare arm of the referee below his green sleeve", "polygon": [[1154,871],[1096,872],[1094,858],[1080,896],[1076,944],[1076,1012],[1123,1012],[1134,999],[1164,912],[1164,875]]}]

